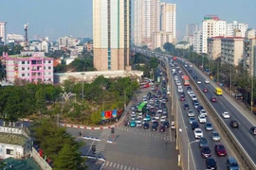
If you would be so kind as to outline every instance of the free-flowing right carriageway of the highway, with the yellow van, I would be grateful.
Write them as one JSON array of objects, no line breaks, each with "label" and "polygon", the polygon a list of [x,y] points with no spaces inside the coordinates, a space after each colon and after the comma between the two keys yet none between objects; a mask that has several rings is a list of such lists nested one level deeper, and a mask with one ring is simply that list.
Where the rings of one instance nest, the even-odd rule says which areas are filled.
[{"label": "free-flowing right carriageway of the highway, with the yellow van", "polygon": [[[183,64],[180,59],[177,59],[177,63]],[[191,75],[198,76],[196,80],[200,79],[202,84],[197,84],[200,89],[208,88],[209,93],[205,93],[207,98],[210,100],[211,96],[215,95],[215,87],[212,84],[205,84],[205,77],[203,73],[199,73],[197,69],[187,67],[187,70],[191,69]],[[229,127],[230,131],[234,134],[240,144],[243,145],[244,149],[246,150],[248,156],[251,158],[252,161],[256,162],[256,137],[249,133],[249,128],[254,126],[252,120],[248,120],[243,113],[241,113],[234,104],[232,104],[225,96],[216,96],[217,102],[212,103],[211,105],[219,115],[222,117],[223,111],[229,111],[230,119],[224,119],[225,123]],[[229,126],[230,120],[237,120],[239,122],[239,128],[232,128]]]}]

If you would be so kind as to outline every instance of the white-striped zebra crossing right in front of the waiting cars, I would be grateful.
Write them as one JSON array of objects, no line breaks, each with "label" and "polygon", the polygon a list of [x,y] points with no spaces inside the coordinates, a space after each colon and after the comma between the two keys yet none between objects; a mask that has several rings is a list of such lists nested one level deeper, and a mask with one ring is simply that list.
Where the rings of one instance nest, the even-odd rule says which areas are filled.
[{"label": "white-striped zebra crossing right in front of the waiting cars", "polygon": [[[137,128],[133,128],[133,127],[117,127],[117,129],[122,130],[122,131],[127,131],[127,132],[133,132],[133,133],[138,134],[140,136],[152,137],[152,138],[159,139],[159,140],[175,142],[173,137],[158,134],[157,132],[148,132],[148,131],[143,132],[144,129],[138,130]],[[147,129],[145,129],[145,131],[146,130]]]}]

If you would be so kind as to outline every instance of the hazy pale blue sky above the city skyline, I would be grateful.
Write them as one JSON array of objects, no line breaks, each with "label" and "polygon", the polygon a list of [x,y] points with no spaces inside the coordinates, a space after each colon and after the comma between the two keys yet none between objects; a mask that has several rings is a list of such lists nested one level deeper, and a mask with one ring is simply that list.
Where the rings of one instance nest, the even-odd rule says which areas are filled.
[{"label": "hazy pale blue sky above the city skyline", "polygon": [[[24,34],[29,24],[29,38],[37,35],[56,39],[65,35],[92,37],[92,0],[0,0],[0,22],[8,23],[8,33]],[[205,15],[218,15],[256,28],[256,0],[162,0],[177,5],[177,36],[185,26],[201,24]]]}]

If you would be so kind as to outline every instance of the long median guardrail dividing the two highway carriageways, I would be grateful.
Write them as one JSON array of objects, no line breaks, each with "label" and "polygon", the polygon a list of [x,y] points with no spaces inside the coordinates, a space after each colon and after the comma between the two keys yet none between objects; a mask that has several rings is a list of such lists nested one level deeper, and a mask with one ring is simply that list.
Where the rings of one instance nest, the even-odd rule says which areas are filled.
[{"label": "long median guardrail dividing the two highway carriageways", "polygon": [[219,125],[219,127],[222,127],[223,131],[225,133],[225,138],[229,142],[231,148],[233,148],[233,152],[235,152],[236,157],[238,158],[238,161],[240,165],[247,170],[254,170],[256,169],[256,165],[254,161],[250,159],[248,156],[246,150],[243,148],[242,144],[239,143],[239,141],[235,138],[233,133],[230,131],[229,127],[225,124],[224,120],[221,118],[221,116],[218,114],[218,112],[212,107],[210,104],[210,101],[208,98],[204,95],[204,93],[198,88],[197,84],[193,80],[192,76],[188,71],[184,68],[183,65],[180,65],[182,71],[186,73],[187,76],[190,76],[191,83],[193,87],[195,88],[196,92],[199,94],[199,97],[201,97],[204,100],[201,100],[206,108],[210,110],[211,116],[213,116],[215,119],[213,121]]}]

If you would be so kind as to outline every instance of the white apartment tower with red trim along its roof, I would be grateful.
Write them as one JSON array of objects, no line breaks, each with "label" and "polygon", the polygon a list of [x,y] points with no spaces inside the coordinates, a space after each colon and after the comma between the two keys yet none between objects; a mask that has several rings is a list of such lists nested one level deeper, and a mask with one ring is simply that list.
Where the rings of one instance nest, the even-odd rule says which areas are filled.
[{"label": "white apartment tower with red trim along its roof", "polygon": [[203,21],[202,53],[208,53],[207,40],[211,37],[226,35],[226,21],[215,15],[207,15]]}]

